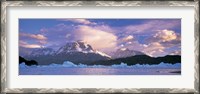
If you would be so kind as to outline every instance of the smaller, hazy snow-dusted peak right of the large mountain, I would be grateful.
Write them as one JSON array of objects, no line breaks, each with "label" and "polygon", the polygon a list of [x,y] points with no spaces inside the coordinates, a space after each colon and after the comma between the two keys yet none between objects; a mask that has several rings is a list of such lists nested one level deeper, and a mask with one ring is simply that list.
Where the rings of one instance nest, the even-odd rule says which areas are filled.
[{"label": "smaller, hazy snow-dusted peak right of the large mountain", "polygon": [[124,57],[145,55],[145,54],[140,51],[129,50],[128,48],[120,48],[117,49],[115,52],[111,52],[110,55],[112,56],[112,58],[115,59],[115,58],[124,58]]}]

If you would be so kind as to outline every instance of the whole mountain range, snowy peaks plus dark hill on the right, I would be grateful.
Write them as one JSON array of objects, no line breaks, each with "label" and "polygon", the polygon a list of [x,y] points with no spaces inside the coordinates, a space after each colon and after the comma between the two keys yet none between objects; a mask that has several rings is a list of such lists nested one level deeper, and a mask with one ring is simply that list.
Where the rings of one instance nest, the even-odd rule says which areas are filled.
[{"label": "whole mountain range, snowy peaks plus dark hill on the right", "polygon": [[165,56],[165,57],[150,57],[140,51],[121,48],[109,55],[97,51],[91,45],[83,41],[68,42],[57,50],[52,48],[37,48],[31,52],[26,51],[23,58],[26,60],[35,60],[39,65],[47,64],[62,64],[64,61],[71,61],[74,64],[87,65],[112,65],[120,64],[121,62],[128,65],[140,64],[159,64],[180,63],[181,56]]}]

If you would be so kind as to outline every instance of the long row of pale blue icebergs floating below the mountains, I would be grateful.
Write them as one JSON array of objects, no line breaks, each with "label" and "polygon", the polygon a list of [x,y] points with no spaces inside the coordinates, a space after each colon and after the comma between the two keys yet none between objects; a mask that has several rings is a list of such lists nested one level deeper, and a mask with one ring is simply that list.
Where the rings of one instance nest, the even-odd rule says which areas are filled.
[{"label": "long row of pale blue icebergs floating below the mountains", "polygon": [[50,65],[32,65],[32,66],[27,66],[25,63],[21,63],[19,65],[20,68],[29,68],[29,67],[63,67],[63,68],[181,68],[181,63],[176,63],[176,64],[169,64],[169,63],[163,63],[161,62],[160,64],[157,65],[149,65],[149,64],[136,64],[136,65],[131,65],[128,66],[126,63],[121,62],[121,64],[114,64],[111,66],[104,66],[104,65],[85,65],[85,64],[74,64],[73,62],[70,61],[65,61],[63,64],[50,64]]}]

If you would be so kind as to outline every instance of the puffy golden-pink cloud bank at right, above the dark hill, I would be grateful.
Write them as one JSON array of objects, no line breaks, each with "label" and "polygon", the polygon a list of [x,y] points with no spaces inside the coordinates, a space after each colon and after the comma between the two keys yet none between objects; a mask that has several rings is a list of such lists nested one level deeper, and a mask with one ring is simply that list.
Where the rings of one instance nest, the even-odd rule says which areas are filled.
[{"label": "puffy golden-pink cloud bank at right, above the dark hill", "polygon": [[172,30],[157,30],[156,33],[149,36],[145,39],[146,44],[136,43],[134,48],[150,56],[164,56],[170,54],[166,50],[177,49],[181,45],[181,35]]}]

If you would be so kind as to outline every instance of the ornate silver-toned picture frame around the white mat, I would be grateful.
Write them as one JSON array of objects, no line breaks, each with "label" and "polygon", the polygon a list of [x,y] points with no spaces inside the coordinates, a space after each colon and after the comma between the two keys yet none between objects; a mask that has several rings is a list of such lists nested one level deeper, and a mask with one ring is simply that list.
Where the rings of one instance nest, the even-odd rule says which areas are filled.
[{"label": "ornate silver-toned picture frame around the white mat", "polygon": [[[194,88],[8,88],[8,7],[194,7]],[[1,2],[1,93],[199,93],[199,1],[2,1]]]}]

